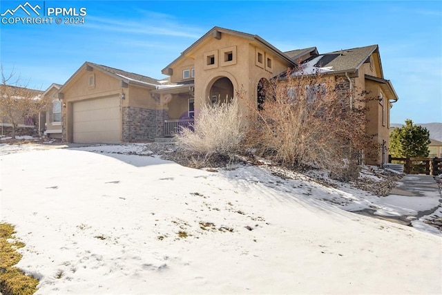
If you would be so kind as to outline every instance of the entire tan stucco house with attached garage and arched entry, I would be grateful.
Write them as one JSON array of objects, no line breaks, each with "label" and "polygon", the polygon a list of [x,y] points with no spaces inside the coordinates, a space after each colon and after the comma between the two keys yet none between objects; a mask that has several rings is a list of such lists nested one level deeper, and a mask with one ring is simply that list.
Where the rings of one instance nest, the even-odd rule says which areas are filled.
[{"label": "entire tan stucco house with attached garage and arched entry", "polygon": [[[377,45],[324,54],[316,47],[282,52],[258,35],[214,27],[162,70],[169,79],[159,81],[86,61],[57,91],[53,86],[46,92],[57,92],[67,142],[154,140],[198,120],[204,102],[224,102],[239,90],[249,99],[240,102],[241,108],[258,106],[264,99],[258,91],[262,84],[299,63],[327,68],[328,79],[344,77],[342,91],[357,88],[378,97],[369,102],[366,132],[374,135],[380,149],[378,158],[366,162],[385,162],[390,108],[398,96],[383,76]],[[58,102],[52,106],[52,127],[58,106]]]}]

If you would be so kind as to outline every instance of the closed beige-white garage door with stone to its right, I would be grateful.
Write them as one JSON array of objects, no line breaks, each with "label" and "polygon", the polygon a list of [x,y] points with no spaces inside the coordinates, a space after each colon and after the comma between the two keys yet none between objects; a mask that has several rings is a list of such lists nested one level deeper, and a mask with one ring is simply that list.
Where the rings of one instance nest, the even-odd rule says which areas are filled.
[{"label": "closed beige-white garage door with stone to its right", "polygon": [[120,142],[121,126],[118,96],[73,104],[74,142]]}]

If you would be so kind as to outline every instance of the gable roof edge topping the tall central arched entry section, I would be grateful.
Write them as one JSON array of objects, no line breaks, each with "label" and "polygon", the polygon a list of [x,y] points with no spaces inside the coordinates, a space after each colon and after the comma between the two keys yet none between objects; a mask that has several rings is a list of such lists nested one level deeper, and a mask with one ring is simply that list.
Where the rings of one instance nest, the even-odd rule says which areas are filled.
[{"label": "gable roof edge topping the tall central arched entry section", "polygon": [[230,30],[227,28],[220,28],[220,27],[215,26],[211,30],[209,30],[209,32],[206,32],[206,34],[204,34],[200,39],[195,41],[191,46],[186,48],[186,50],[184,50],[179,57],[177,57],[169,65],[167,65],[165,68],[163,68],[162,73],[164,75],[167,75],[166,70],[168,68],[171,68],[171,66],[173,64],[175,64],[177,61],[179,61],[180,59],[182,59],[183,57],[185,57],[186,55],[191,53],[192,50],[194,50],[198,45],[200,45],[208,37],[213,36],[213,37],[216,37],[219,39],[221,34],[228,34],[228,35],[233,35],[233,36],[237,36],[237,37],[242,37],[244,39],[257,41],[259,44],[261,44],[262,46],[264,46],[265,48],[270,50],[273,54],[275,54],[278,57],[280,57],[281,59],[284,59],[285,61],[289,62],[289,64],[291,64],[291,66],[296,66],[296,62],[293,61],[292,59],[290,59],[289,56],[285,55],[285,53],[282,53],[282,51],[280,51],[278,48],[271,45],[269,42],[265,41],[265,39],[262,39],[258,35],[251,35],[247,32],[240,32],[237,30]]}]

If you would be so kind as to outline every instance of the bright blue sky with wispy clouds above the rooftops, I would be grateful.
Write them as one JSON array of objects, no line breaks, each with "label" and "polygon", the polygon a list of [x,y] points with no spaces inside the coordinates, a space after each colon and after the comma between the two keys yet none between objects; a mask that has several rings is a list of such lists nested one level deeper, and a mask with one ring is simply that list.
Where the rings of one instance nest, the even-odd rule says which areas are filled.
[{"label": "bright blue sky with wispy clouds above the rooftops", "polygon": [[[259,35],[282,51],[378,44],[385,79],[399,97],[391,122],[442,122],[442,1],[28,2],[87,12],[84,24],[0,25],[3,70],[14,69],[30,87],[63,84],[84,61],[159,79],[162,68],[221,26]],[[2,0],[0,13],[25,3]]]}]

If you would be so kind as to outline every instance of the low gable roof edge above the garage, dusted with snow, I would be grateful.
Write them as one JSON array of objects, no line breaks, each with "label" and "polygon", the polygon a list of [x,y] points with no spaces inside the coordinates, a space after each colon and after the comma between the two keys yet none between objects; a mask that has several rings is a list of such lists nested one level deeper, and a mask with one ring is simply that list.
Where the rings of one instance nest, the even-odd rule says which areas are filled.
[{"label": "low gable roof edge above the garage, dusted with snow", "polygon": [[102,64],[94,64],[93,62],[86,61],[84,64],[82,64],[79,69],[74,73],[74,75],[70,76],[68,81],[66,81],[63,86],[59,89],[60,92],[66,88],[66,86],[73,80],[81,70],[88,68],[95,68],[102,73],[105,73],[107,75],[111,75],[112,77],[115,77],[119,79],[120,81],[126,83],[126,84],[136,84],[140,86],[149,86],[153,88],[157,88],[157,86],[161,85],[160,82],[158,82],[157,79],[153,79],[151,77],[147,77],[144,75],[139,75],[131,72],[126,72],[125,70],[119,70],[118,68],[111,68],[110,66],[103,66]]}]

